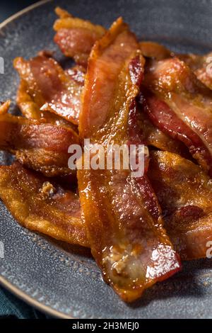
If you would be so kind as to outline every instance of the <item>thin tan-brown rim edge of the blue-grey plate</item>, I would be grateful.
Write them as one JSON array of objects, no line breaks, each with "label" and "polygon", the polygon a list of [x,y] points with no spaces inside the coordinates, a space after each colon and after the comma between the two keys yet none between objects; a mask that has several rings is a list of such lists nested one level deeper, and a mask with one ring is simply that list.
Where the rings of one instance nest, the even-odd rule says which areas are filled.
[{"label": "thin tan-brown rim edge of the blue-grey plate", "polygon": [[[38,2],[35,2],[35,4],[32,4],[30,6],[27,6],[25,9],[22,9],[21,11],[18,11],[17,13],[13,14],[12,16],[9,16],[4,20],[2,23],[0,23],[0,32],[1,29],[7,26],[9,23],[16,20],[16,18],[19,18],[20,16],[23,16],[25,13],[28,13],[29,11],[32,11],[33,9],[40,7],[44,4],[47,4],[47,2],[50,2],[52,0],[41,0]],[[45,312],[47,315],[51,315],[52,317],[59,317],[61,319],[76,319],[73,317],[70,317],[68,315],[65,315],[62,312],[59,312],[57,310],[52,309],[52,307],[49,307],[47,305],[44,305],[40,303],[38,300],[35,300],[31,296],[29,296],[27,293],[24,293],[22,290],[20,290],[18,287],[14,286],[13,283],[9,282],[4,278],[3,276],[0,276],[0,285],[4,288],[6,288],[8,291],[13,293],[13,295],[16,295],[16,297],[20,298],[20,300],[23,300],[25,303],[28,303],[28,305],[31,305],[35,307],[37,310],[40,310],[41,312]]]}]

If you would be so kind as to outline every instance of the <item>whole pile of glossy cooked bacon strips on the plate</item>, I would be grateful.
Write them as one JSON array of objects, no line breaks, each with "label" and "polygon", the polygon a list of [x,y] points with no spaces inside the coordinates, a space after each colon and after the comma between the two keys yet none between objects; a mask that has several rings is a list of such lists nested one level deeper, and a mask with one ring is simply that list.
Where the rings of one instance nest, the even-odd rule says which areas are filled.
[{"label": "whole pile of glossy cooked bacon strips on the plate", "polygon": [[[126,302],[206,257],[212,240],[212,72],[208,55],[139,43],[118,18],[109,30],[57,8],[51,52],[19,57],[17,104],[0,106],[0,197],[30,230],[90,247],[105,282]],[[148,146],[148,168],[68,167],[71,144]]]}]

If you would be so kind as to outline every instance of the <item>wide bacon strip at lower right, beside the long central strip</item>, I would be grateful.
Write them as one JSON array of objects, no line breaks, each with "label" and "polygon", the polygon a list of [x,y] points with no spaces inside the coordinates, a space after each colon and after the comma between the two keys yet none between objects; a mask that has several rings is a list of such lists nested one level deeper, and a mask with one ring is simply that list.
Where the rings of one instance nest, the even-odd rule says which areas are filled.
[{"label": "wide bacon strip at lower right, beside the long central strip", "polygon": [[212,240],[211,179],[199,166],[169,152],[151,152],[148,176],[182,259],[206,257]]}]

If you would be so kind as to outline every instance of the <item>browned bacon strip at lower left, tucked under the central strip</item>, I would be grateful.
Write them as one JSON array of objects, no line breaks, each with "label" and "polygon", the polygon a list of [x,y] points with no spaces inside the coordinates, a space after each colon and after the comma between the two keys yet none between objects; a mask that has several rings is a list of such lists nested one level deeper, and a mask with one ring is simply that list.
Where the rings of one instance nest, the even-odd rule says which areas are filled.
[{"label": "browned bacon strip at lower left, tucked under the central strip", "polygon": [[78,196],[54,181],[18,162],[0,166],[0,198],[23,227],[88,247]]}]

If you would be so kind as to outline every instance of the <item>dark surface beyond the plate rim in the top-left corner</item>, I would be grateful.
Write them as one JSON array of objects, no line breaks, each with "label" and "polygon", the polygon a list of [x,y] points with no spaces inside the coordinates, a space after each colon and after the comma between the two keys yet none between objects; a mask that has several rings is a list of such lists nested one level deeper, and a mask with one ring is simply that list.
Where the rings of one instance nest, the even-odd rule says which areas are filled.
[{"label": "dark surface beyond the plate rim in the top-left corner", "polygon": [[0,2],[0,23],[6,20],[9,16],[17,11],[24,9],[31,4],[37,2],[36,0],[4,0]]}]

